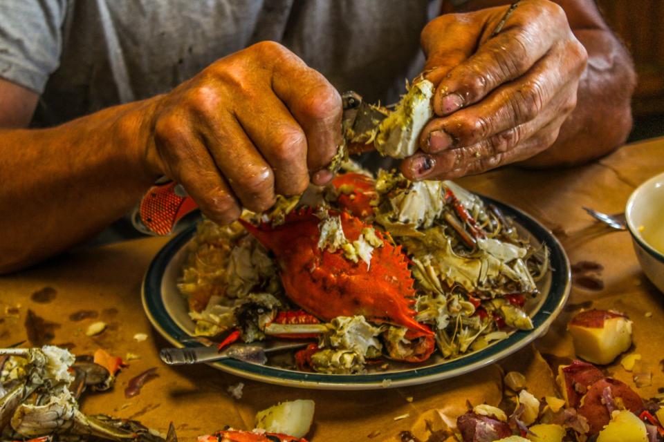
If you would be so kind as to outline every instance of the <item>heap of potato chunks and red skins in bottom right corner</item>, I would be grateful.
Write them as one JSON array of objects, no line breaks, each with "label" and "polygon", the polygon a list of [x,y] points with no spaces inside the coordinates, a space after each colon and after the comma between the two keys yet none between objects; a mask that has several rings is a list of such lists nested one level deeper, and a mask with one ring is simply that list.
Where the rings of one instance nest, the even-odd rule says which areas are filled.
[{"label": "heap of potato chunks and red skins in bottom right corner", "polygon": [[[519,372],[504,378],[498,406],[479,404],[459,416],[456,428],[432,432],[429,441],[445,442],[661,442],[664,407],[661,398],[644,400],[598,367],[572,361],[558,367],[562,396],[537,398]],[[410,432],[402,441],[420,442]]]}]

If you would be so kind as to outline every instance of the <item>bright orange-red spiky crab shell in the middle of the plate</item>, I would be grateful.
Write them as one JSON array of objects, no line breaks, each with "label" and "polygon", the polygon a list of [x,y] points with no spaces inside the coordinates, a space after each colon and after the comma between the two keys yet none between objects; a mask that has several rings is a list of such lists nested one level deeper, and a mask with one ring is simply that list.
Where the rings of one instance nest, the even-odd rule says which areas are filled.
[{"label": "bright orange-red spiky crab shell in the middle of the plate", "polygon": [[[344,234],[357,240],[369,227],[347,212],[339,213]],[[414,280],[407,257],[384,236],[376,247],[371,265],[352,262],[342,251],[331,253],[318,248],[320,220],[311,210],[291,212],[278,227],[259,227],[243,222],[244,227],[267,249],[275,253],[281,267],[286,296],[302,309],[322,320],[337,316],[362,315],[377,323],[406,327],[410,337],[431,336],[433,332],[414,319]]]}]

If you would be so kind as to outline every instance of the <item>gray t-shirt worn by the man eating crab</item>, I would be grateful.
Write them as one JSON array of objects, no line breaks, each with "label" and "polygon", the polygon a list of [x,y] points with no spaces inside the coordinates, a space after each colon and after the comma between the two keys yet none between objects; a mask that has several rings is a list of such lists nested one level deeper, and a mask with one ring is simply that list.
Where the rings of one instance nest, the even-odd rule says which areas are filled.
[{"label": "gray t-shirt worn by the man eating crab", "polygon": [[339,90],[392,102],[423,66],[436,0],[2,0],[0,77],[42,95],[33,126],[167,92],[275,40]]}]

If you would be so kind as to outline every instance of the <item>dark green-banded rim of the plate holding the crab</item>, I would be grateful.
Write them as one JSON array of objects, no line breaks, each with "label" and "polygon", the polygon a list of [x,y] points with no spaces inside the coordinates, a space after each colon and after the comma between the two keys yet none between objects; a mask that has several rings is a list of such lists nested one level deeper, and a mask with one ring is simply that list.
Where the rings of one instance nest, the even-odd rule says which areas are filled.
[{"label": "dark green-banded rim of the plate holding the crab", "polygon": [[[399,372],[371,374],[320,374],[298,372],[290,369],[257,365],[236,360],[225,360],[212,365],[216,368],[243,378],[255,381],[288,385],[292,387],[317,388],[324,390],[370,390],[384,387],[403,387],[440,381],[479,369],[501,358],[505,358],[531,343],[546,332],[555,317],[560,313],[570,291],[570,266],[560,242],[542,224],[530,215],[497,202],[481,197],[486,204],[494,204],[513,218],[517,224],[531,235],[546,244],[551,251],[551,286],[540,309],[533,316],[532,330],[518,330],[497,343],[477,352],[461,356],[451,361],[441,361],[427,367],[413,367]],[[180,341],[190,335],[168,314],[162,294],[165,269],[174,255],[185,247],[196,232],[192,225],[170,240],[152,260],[142,286],[142,301],[145,312],[157,331],[176,347],[195,347],[196,343],[183,344]]]}]

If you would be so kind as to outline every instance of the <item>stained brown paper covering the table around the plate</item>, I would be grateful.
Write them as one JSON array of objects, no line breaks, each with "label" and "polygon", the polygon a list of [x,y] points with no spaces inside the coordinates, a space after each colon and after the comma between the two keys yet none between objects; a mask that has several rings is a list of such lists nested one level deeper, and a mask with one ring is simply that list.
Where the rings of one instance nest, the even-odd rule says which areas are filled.
[{"label": "stained brown paper covering the table around the plate", "polygon": [[[664,138],[624,146],[598,162],[558,171],[524,171],[507,168],[459,180],[473,191],[513,204],[546,225],[562,242],[572,263],[590,260],[604,269],[604,288],[589,291],[573,286],[563,314],[548,334],[535,344],[551,358],[573,356],[566,323],[580,305],[624,311],[634,320],[634,349],[652,370],[652,385],[636,389],[651,397],[664,387],[664,295],[645,278],[638,266],[627,232],[602,227],[582,211],[591,206],[607,213],[623,211],[629,194],[648,177],[664,171]],[[74,345],[76,354],[98,348],[124,357],[140,355],[123,369],[113,390],[88,394],[85,412],[139,419],[165,432],[174,421],[181,440],[194,440],[224,425],[253,427],[253,416],[279,401],[311,398],[316,403],[314,441],[369,441],[398,439],[402,430],[426,437],[425,421],[434,427],[453,419],[472,404],[497,404],[501,399],[501,369],[486,367],[448,381],[417,387],[368,392],[330,392],[277,387],[246,381],[207,366],[166,367],[158,349],[166,346],[143,314],[140,285],[150,260],[167,242],[164,238],[133,240],[104,247],[77,249],[50,262],[0,277],[0,346],[27,338],[24,323],[28,309],[53,323],[53,344]],[[44,287],[57,292],[50,302],[35,302],[31,295]],[[98,312],[98,318],[73,321],[80,310]],[[651,316],[652,314],[652,316]],[[86,336],[86,327],[104,320],[108,329]],[[134,334],[146,333],[143,342]],[[553,356],[552,356],[553,355]],[[555,385],[539,353],[526,348],[502,363],[505,369],[526,374],[535,396],[553,394]],[[124,397],[129,379],[158,367],[158,378],[133,398]],[[618,363],[608,367],[612,376],[634,385],[631,373]],[[243,396],[232,398],[230,385],[243,382]],[[412,402],[407,399],[412,398]],[[405,419],[394,420],[408,414]]]}]

